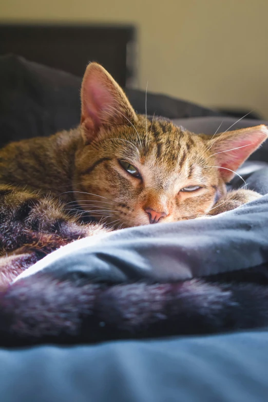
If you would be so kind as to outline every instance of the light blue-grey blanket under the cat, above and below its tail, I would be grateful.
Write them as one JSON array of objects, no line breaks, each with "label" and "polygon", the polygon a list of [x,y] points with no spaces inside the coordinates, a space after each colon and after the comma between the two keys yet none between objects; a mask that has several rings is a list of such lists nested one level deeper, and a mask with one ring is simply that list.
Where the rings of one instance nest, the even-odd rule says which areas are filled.
[{"label": "light blue-grey blanket under the cat, above and below its tail", "polygon": [[[244,171],[248,186],[268,192],[267,168]],[[256,275],[268,261],[267,227],[268,195],[205,221],[136,227],[80,240],[25,274],[41,270],[58,278],[117,283],[226,275],[250,267]],[[0,395],[3,402],[262,402],[268,394],[267,356],[266,329],[1,350]]]}]

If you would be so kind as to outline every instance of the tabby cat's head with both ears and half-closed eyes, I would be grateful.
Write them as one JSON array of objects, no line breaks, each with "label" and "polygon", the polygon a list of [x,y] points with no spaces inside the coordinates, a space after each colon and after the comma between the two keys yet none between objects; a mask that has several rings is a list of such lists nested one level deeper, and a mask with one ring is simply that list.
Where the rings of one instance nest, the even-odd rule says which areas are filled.
[{"label": "tabby cat's head with both ears and half-closed eyes", "polygon": [[264,125],[205,136],[146,119],[96,63],[86,69],[81,98],[76,200],[117,227],[206,214],[234,171],[267,138]]}]

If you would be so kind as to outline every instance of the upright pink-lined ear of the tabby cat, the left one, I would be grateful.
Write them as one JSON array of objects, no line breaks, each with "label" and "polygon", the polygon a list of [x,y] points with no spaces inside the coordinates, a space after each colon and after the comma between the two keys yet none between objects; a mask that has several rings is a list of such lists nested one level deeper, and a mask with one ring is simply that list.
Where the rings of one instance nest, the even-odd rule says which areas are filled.
[{"label": "upright pink-lined ear of the tabby cat, the left one", "polygon": [[90,143],[101,127],[130,125],[137,115],[124,91],[98,63],[90,63],[81,88],[81,126],[83,138]]}]

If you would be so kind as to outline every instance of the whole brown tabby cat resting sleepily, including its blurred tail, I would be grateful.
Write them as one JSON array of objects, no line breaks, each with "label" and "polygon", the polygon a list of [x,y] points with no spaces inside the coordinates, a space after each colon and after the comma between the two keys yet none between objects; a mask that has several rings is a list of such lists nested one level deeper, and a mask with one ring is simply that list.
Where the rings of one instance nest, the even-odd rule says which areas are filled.
[{"label": "whole brown tabby cat resting sleepily, including its blurred tail", "polygon": [[[9,317],[7,321],[10,322],[11,314],[20,317],[20,325],[12,321],[14,317],[11,319],[12,331],[18,331],[18,337],[27,338],[27,331],[32,326],[27,327],[27,317],[31,315],[27,309],[31,308],[27,303],[28,313],[25,312],[21,297],[24,295],[25,298],[27,294],[35,308],[39,302],[42,304],[42,296],[36,295],[37,288],[46,293],[56,286],[63,295],[68,294],[80,303],[79,294],[82,297],[85,290],[83,286],[75,287],[70,282],[59,286],[55,285],[55,280],[42,277],[42,283],[37,287],[35,278],[27,279],[26,284],[18,282],[8,287],[18,274],[60,246],[113,229],[214,216],[260,197],[247,189],[227,192],[226,183],[267,136],[268,129],[264,125],[214,136],[196,135],[166,119],[138,115],[110,74],[97,63],[89,64],[82,82],[81,123],[77,128],[49,138],[10,143],[0,150],[0,323],[3,333],[9,338],[5,320]],[[29,289],[27,283],[30,283]],[[173,314],[176,312],[179,317],[184,317],[183,297],[187,299],[193,292],[196,297],[192,297],[189,305],[196,311],[190,327],[200,321],[198,303],[202,305],[201,295],[210,297],[210,300],[215,297],[214,310],[207,309],[207,314],[201,315],[204,322],[214,317],[215,323],[207,324],[207,330],[214,326],[218,328],[216,322],[219,318],[215,314],[224,309],[224,303],[228,310],[232,303],[235,305],[233,288],[229,284],[220,286],[197,280],[178,284],[128,284],[111,286],[104,293],[98,285],[85,286],[88,297],[102,294],[107,303],[113,300],[109,310],[111,316],[117,316],[127,303],[121,300],[120,307],[120,303],[114,301],[113,292],[119,294],[124,286],[128,286],[129,295],[133,294],[133,311],[139,312],[138,321],[143,326],[143,297],[152,303],[154,298],[159,298],[159,303],[165,305],[163,314],[166,315],[168,303],[164,296],[171,292],[174,305],[179,300],[181,308],[180,312],[174,307]],[[50,311],[59,317],[62,307],[55,300],[48,300],[47,295],[44,297]],[[11,301],[10,304],[5,304],[7,300]],[[44,318],[42,307],[40,309],[36,322],[40,317]],[[70,324],[68,318],[69,330],[77,325],[74,310],[69,312],[74,320]],[[137,314],[133,316],[136,321]],[[162,321],[156,319],[154,308],[146,314],[146,328],[154,322],[150,334],[161,334]],[[190,316],[188,310],[186,315]],[[230,320],[227,317],[227,321]],[[106,317],[105,321],[109,319]],[[170,323],[174,327],[174,317],[168,322],[166,329]],[[65,324],[63,322],[63,327]],[[50,328],[51,333],[57,332],[57,326],[59,323],[55,323],[54,330]],[[61,333],[64,333],[63,327]],[[110,334],[113,330],[110,328]],[[124,331],[121,323],[114,333],[123,336]],[[37,338],[48,336],[48,332],[44,330]],[[99,327],[97,333],[102,337],[103,331]],[[136,335],[139,334],[143,332],[136,331]],[[29,336],[35,339],[34,330]],[[90,335],[87,336],[91,339]]]}]

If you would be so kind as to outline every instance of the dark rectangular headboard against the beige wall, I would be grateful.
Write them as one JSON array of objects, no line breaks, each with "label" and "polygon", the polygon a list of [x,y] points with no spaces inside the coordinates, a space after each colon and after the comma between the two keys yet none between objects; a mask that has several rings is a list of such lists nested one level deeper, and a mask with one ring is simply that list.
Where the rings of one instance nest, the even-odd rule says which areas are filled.
[{"label": "dark rectangular headboard against the beige wall", "polygon": [[135,81],[135,28],[110,25],[0,24],[0,54],[13,53],[82,76],[101,63],[123,87]]}]

